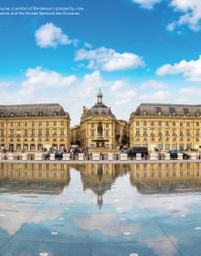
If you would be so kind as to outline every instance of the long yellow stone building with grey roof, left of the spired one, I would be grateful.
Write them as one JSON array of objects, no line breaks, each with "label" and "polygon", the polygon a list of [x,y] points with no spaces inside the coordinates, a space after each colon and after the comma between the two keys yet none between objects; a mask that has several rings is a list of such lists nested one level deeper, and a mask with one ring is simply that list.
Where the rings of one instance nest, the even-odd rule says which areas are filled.
[{"label": "long yellow stone building with grey roof, left of the spired one", "polygon": [[1,149],[69,146],[69,113],[59,104],[0,106]]}]

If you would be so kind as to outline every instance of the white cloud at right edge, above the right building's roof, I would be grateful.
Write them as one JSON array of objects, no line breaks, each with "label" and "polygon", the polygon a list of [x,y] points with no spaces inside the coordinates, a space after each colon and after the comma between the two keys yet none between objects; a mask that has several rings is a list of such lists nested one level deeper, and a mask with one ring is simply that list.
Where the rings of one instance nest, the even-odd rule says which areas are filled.
[{"label": "white cloud at right edge, above the right building's roof", "polygon": [[196,60],[183,59],[174,65],[164,64],[156,70],[156,74],[159,76],[183,74],[187,80],[201,81],[201,56]]}]

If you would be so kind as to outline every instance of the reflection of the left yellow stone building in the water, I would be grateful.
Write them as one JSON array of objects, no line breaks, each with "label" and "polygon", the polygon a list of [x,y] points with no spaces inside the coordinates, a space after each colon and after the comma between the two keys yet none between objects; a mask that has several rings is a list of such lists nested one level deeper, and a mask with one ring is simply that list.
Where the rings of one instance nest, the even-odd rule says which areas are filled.
[{"label": "reflection of the left yellow stone building in the water", "polygon": [[59,194],[69,185],[69,165],[62,164],[0,164],[2,192]]}]

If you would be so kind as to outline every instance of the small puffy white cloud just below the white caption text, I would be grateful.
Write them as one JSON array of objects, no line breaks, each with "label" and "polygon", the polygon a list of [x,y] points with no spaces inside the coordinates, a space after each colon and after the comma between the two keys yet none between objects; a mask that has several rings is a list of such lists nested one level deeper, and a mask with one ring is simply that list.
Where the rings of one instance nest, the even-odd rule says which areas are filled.
[{"label": "small puffy white cloud just below the white caption text", "polygon": [[37,45],[40,48],[57,48],[58,45],[69,45],[73,40],[65,35],[60,27],[47,23],[39,27],[35,33]]}]

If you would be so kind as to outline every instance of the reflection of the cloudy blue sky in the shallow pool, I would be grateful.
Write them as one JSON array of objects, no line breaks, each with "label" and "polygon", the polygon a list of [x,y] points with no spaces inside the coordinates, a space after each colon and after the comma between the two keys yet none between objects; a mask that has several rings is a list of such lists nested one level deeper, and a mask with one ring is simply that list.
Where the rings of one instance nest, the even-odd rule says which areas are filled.
[{"label": "reflection of the cloudy blue sky in the shallow pool", "polygon": [[[128,248],[122,245],[138,244],[134,247],[136,251],[131,248],[127,254],[122,252],[120,255],[136,252],[139,255],[175,256],[180,255],[178,250],[184,246],[185,250],[196,250],[194,243],[201,236],[199,193],[141,194],[132,187],[127,173],[113,178],[111,189],[102,195],[100,208],[97,195],[90,187],[83,190],[80,175],[79,170],[71,169],[69,185],[59,195],[0,194],[0,240],[55,242],[60,246],[90,244],[94,251],[103,244],[99,249],[102,253],[106,244],[121,245],[121,249],[111,247],[112,251],[124,252]],[[48,187],[48,183],[45,186]],[[188,240],[187,249],[185,239]],[[0,255],[6,255],[2,253],[11,249],[12,246],[1,249],[0,243]],[[17,250],[20,251],[20,247]]]}]

